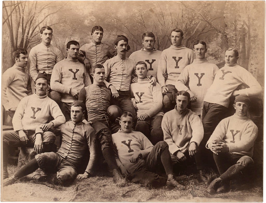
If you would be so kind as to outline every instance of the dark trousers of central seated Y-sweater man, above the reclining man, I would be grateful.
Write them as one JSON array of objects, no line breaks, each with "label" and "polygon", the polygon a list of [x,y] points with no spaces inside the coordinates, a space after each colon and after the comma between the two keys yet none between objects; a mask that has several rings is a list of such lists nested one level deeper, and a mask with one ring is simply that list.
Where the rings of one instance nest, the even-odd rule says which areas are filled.
[{"label": "dark trousers of central seated Y-sweater man, above the reclining man", "polygon": [[164,134],[161,127],[163,116],[153,116],[146,121],[137,121],[135,131],[142,132],[153,145],[164,140]]}]

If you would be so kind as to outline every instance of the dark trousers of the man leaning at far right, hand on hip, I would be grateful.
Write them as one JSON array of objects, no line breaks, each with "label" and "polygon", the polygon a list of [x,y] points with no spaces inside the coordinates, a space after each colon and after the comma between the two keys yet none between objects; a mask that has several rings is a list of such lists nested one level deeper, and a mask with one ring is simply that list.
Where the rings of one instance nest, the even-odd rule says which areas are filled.
[{"label": "dark trousers of the man leaning at far right, hand on hip", "polygon": [[219,104],[213,104],[209,102],[203,103],[202,124],[204,136],[200,145],[198,146],[200,150],[195,155],[195,159],[197,159],[197,168],[199,170],[205,169],[206,166],[215,168],[212,152],[211,150],[206,149],[205,145],[218,123],[225,118],[227,109],[228,108]]}]

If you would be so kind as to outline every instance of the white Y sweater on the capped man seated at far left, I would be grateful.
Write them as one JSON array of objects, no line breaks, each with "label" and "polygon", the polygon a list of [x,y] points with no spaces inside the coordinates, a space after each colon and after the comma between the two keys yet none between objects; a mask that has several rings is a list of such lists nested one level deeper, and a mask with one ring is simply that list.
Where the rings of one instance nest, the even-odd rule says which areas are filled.
[{"label": "white Y sweater on the capped man seated at far left", "polygon": [[[54,120],[51,120],[51,117]],[[45,123],[53,122],[54,127],[65,123],[65,117],[57,103],[47,95],[32,94],[24,97],[18,105],[12,123],[14,131],[33,130]]]}]

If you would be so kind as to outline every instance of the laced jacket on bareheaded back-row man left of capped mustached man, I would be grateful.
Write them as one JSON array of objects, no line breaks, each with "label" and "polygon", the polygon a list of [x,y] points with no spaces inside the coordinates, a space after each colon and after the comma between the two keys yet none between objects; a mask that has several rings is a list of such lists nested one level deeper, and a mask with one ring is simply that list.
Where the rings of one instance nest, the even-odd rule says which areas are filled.
[{"label": "laced jacket on bareheaded back-row man left of capped mustached man", "polygon": [[96,64],[104,64],[104,62],[113,58],[116,54],[114,46],[105,43],[88,43],[80,47],[79,55],[82,61],[87,58],[90,64],[95,66]]}]

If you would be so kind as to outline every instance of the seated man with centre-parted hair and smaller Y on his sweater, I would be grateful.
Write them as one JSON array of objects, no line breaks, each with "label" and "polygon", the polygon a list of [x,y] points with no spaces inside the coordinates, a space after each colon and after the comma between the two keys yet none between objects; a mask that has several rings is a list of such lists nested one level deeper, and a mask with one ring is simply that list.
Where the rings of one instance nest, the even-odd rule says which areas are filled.
[{"label": "seated man with centre-parted hair and smaller Y on his sweater", "polygon": [[[174,163],[182,163],[195,155],[198,181],[206,182],[203,168],[198,165],[197,147],[203,138],[203,126],[200,118],[187,108],[190,95],[186,91],[176,94],[176,106],[165,113],[162,121],[164,141],[169,145],[169,151]],[[190,159],[191,160],[191,159]]]}]

